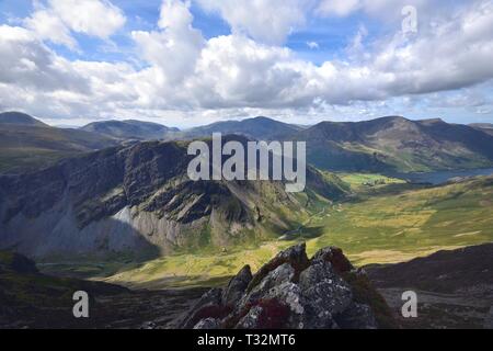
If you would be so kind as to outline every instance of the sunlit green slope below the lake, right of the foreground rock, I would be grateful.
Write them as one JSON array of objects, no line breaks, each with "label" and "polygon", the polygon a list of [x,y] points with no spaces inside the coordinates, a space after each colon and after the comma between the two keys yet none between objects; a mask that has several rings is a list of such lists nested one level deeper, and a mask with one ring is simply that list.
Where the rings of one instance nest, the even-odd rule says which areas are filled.
[{"label": "sunlit green slope below the lake, right of the foreground rock", "polygon": [[312,247],[344,248],[356,264],[399,262],[493,240],[492,179],[377,195],[321,220]]}]

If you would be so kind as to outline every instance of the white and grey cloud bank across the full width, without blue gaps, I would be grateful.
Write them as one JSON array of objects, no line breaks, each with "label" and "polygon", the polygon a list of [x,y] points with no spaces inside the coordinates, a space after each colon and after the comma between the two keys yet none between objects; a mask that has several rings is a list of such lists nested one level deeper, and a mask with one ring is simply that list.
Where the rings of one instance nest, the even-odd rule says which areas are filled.
[{"label": "white and grey cloud bank across the full width, without blue gaps", "polygon": [[[43,18],[43,11],[58,13],[55,2],[51,0],[48,9],[37,9],[31,19]],[[390,2],[392,5],[398,1],[379,0],[372,7],[377,9]],[[1,25],[0,105],[74,117],[165,113],[192,118],[263,111],[291,117],[296,114],[333,116],[351,111],[370,115],[371,111],[400,113],[395,106],[408,102],[405,106],[411,111],[413,97],[471,91],[493,79],[491,0],[456,7],[446,16],[435,13],[429,25],[412,37],[395,31],[393,35],[370,41],[369,30],[362,25],[344,57],[321,65],[273,44],[284,41],[290,27],[303,23],[303,15],[287,15],[282,24],[273,24],[267,20],[275,13],[284,13],[280,3],[280,8],[270,8],[275,1],[249,3],[266,7],[261,9],[264,12],[259,12],[264,18],[260,25],[265,25],[255,30],[260,32],[252,32],[255,20],[250,23],[243,19],[237,23],[234,19],[240,15],[236,14],[230,22],[238,29],[231,34],[205,38],[194,27],[190,2],[164,0],[157,30],[131,33],[136,54],[145,63],[139,67],[144,68],[126,63],[64,58],[44,43],[49,39],[74,45],[69,32],[56,31],[58,36],[49,35],[62,27],[57,21],[45,22],[45,29],[34,27],[28,21],[25,27]],[[366,2],[358,1],[358,7],[365,5]],[[229,5],[219,1],[217,7]],[[211,5],[211,10],[222,11],[217,7]],[[341,15],[348,11],[343,10],[337,10]],[[95,35],[90,26],[69,25],[61,15],[58,18],[70,31],[78,29]],[[270,30],[273,25],[276,29]],[[98,31],[103,37],[111,33]],[[255,39],[257,35],[262,38]],[[436,100],[421,101],[433,104]],[[474,104],[475,111],[491,107],[488,99],[451,97],[449,101],[450,105]]]}]

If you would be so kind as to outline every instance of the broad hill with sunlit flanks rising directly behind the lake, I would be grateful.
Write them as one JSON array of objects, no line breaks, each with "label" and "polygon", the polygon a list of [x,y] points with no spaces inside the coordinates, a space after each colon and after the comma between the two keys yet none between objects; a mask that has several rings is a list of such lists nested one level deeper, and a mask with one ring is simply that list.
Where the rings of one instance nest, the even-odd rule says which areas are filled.
[{"label": "broad hill with sunlit flanks rising directly behind the lake", "polygon": [[291,138],[306,140],[308,161],[328,170],[420,172],[493,165],[492,136],[442,120],[322,122]]}]

